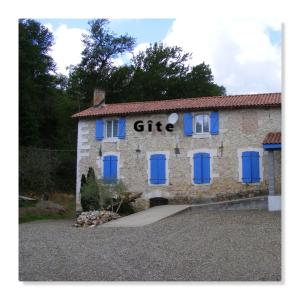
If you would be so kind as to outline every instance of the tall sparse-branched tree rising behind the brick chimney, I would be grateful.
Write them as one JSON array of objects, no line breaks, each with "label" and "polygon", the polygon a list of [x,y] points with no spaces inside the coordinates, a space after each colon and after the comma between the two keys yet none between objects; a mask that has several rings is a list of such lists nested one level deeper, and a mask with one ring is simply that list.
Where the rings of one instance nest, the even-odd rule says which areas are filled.
[{"label": "tall sparse-branched tree rising behind the brick chimney", "polygon": [[82,61],[71,66],[69,92],[77,99],[80,109],[90,106],[96,86],[107,89],[110,74],[115,67],[113,60],[131,51],[135,40],[128,35],[117,36],[108,29],[109,21],[95,19],[89,22],[89,34],[83,35]]}]

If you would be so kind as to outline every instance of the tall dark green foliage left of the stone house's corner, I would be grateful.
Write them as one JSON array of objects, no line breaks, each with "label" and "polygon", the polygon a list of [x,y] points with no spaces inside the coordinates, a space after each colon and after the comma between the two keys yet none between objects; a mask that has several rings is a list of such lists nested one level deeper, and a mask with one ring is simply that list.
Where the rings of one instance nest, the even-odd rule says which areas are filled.
[{"label": "tall dark green foliage left of the stone house's corner", "polygon": [[25,192],[75,188],[76,121],[70,115],[77,104],[66,92],[67,78],[54,73],[53,43],[46,27],[19,20],[19,177]]}]

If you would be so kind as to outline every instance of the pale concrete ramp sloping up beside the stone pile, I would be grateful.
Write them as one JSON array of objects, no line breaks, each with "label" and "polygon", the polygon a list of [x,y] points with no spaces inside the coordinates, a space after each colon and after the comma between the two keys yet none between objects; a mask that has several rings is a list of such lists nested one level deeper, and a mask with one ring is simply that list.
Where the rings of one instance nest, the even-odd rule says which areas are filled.
[{"label": "pale concrete ramp sloping up beside the stone pile", "polygon": [[144,211],[110,221],[100,227],[140,227],[155,223],[178,212],[184,211],[190,205],[159,205]]}]

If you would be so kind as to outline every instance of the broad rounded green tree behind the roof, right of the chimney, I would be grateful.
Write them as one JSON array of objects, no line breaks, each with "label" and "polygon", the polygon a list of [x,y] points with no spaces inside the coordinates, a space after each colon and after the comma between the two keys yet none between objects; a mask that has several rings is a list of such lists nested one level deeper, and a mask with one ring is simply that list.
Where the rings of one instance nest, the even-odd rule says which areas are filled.
[{"label": "broad rounded green tree behind the roof, right of the chimney", "polygon": [[133,57],[131,65],[111,72],[108,99],[112,102],[164,100],[224,95],[213,81],[209,65],[189,67],[190,53],[154,43]]}]

